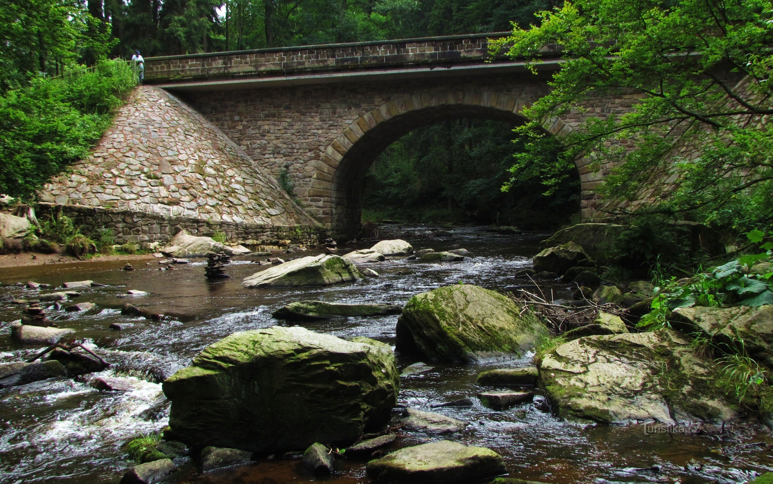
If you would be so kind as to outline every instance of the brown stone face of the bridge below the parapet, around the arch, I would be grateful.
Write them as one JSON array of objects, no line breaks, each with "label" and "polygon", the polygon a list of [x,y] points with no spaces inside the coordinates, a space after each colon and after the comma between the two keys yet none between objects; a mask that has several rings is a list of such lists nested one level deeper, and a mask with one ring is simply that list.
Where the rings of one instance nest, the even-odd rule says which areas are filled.
[{"label": "brown stone face of the bridge below the parapet, around the arch", "polygon": [[[287,170],[295,184],[295,195],[306,210],[331,227],[337,204],[346,199],[342,192],[356,193],[362,181],[342,171],[360,165],[358,170],[364,175],[363,166],[367,168],[373,162],[381,146],[404,135],[404,127],[454,117],[493,118],[497,113],[502,118],[509,115],[517,123],[524,119],[519,114],[523,107],[546,94],[547,89],[545,77],[521,73],[207,91],[186,93],[185,97],[265,172],[277,177]],[[589,117],[629,111],[637,98],[635,94],[599,97],[584,112],[570,112],[561,120],[553,120],[546,129],[566,135]],[[447,109],[433,111],[438,107]],[[396,122],[383,122],[390,118]],[[342,159],[358,146],[366,132],[383,141],[369,152],[358,152],[357,159],[345,167]],[[586,219],[594,216],[598,203],[594,189],[611,169],[606,166],[593,172],[587,163],[577,160]],[[346,223],[358,224],[359,220]]]}]

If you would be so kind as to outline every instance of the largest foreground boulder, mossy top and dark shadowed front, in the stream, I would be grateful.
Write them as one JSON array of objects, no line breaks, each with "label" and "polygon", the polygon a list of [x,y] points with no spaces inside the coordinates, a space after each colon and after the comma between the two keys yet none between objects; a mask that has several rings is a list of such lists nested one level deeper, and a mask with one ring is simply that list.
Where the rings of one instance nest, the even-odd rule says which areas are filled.
[{"label": "largest foreground boulder, mossy top and dark shadowed front, in the stream", "polygon": [[187,445],[281,452],[380,428],[399,383],[389,345],[272,326],[206,347],[163,389],[169,427]]}]

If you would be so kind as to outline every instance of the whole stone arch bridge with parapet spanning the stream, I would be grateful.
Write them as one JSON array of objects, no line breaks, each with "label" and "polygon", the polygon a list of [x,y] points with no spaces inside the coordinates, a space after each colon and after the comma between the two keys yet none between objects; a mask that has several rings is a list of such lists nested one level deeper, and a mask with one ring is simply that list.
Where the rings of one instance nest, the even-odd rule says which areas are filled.
[{"label": "whole stone arch bridge with parapet spanning the stream", "polygon": [[[212,121],[264,170],[286,170],[295,196],[337,237],[359,230],[359,193],[376,156],[425,124],[489,118],[520,124],[560,68],[546,49],[538,75],[490,60],[504,33],[148,58],[145,84],[169,90]],[[587,117],[628,111],[635,95],[602,96],[544,124],[564,137]],[[597,172],[577,160],[581,210],[594,216]]]}]

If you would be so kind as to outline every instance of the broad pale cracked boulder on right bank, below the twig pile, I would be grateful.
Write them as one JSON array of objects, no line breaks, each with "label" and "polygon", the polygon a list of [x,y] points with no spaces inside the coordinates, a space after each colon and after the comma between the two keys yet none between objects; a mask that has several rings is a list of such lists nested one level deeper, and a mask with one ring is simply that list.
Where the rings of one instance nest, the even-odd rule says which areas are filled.
[{"label": "broad pale cracked boulder on right bank, below the twig pile", "polygon": [[540,363],[544,389],[561,417],[608,424],[736,421],[717,383],[720,374],[669,329],[585,336]]}]

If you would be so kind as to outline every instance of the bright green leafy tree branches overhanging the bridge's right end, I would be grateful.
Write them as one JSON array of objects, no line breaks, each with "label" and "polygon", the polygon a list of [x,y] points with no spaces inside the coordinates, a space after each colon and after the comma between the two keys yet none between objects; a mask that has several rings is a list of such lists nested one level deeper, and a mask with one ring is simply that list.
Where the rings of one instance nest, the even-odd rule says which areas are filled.
[{"label": "bright green leafy tree branches overhanging the bridge's right end", "polygon": [[[771,226],[773,128],[760,122],[773,114],[769,2],[577,0],[538,16],[540,26],[516,26],[494,46],[536,68],[540,49],[559,44],[565,60],[550,94],[524,111],[531,121],[519,131],[530,136],[531,156],[518,159],[516,173],[540,172],[553,187],[582,155],[591,169],[617,165],[602,189],[612,201],[638,199],[659,188],[655,180],[670,177],[678,182],[640,211],[736,230]],[[748,82],[723,77],[727,66]],[[598,93],[644,96],[632,100],[631,113],[601,114],[557,147],[543,123],[570,110],[586,112]],[[618,140],[635,146],[616,148]],[[683,145],[695,154],[675,155]],[[542,152],[559,153],[543,158]],[[624,207],[608,210],[628,213]]]}]

